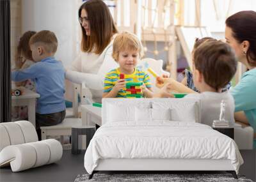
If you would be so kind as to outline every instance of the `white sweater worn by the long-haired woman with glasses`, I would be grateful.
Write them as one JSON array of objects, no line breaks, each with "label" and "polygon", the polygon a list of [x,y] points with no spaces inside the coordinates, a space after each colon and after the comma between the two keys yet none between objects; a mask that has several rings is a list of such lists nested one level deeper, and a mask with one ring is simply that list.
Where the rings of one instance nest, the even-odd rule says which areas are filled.
[{"label": "white sweater worn by the long-haired woman with glasses", "polygon": [[77,59],[72,63],[71,68],[67,69],[66,79],[77,84],[84,82],[85,86],[90,89],[92,98],[99,102],[102,97],[104,78],[109,70],[118,67],[118,64],[112,57],[113,40],[99,54],[81,52]]}]

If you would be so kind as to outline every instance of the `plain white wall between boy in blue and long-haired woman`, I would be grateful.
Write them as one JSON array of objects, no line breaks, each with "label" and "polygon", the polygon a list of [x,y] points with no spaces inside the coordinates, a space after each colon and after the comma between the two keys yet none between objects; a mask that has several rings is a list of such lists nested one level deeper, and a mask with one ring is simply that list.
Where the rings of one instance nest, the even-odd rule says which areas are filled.
[{"label": "plain white wall between boy in blue and long-haired woman", "polygon": [[79,0],[22,0],[22,33],[53,31],[58,38],[56,59],[68,66],[77,56]]}]

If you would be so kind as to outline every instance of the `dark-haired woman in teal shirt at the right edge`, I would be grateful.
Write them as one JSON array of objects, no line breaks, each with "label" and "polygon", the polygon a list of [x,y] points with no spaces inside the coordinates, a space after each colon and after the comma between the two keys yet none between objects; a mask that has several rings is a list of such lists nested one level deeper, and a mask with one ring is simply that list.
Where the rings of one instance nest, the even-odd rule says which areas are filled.
[{"label": "dark-haired woman in teal shirt at the right edge", "polygon": [[235,119],[253,127],[256,148],[256,12],[240,11],[228,17],[225,38],[238,61],[248,68],[230,92],[236,104]]}]

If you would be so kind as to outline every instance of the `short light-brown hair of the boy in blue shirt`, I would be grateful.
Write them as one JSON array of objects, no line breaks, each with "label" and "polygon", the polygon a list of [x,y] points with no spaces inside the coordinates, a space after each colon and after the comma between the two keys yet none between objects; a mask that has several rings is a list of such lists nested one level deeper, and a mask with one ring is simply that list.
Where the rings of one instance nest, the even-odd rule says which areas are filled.
[{"label": "short light-brown hair of the boy in blue shirt", "polygon": [[29,45],[33,44],[43,46],[48,53],[55,53],[58,47],[58,40],[52,31],[44,30],[39,31],[30,38]]}]

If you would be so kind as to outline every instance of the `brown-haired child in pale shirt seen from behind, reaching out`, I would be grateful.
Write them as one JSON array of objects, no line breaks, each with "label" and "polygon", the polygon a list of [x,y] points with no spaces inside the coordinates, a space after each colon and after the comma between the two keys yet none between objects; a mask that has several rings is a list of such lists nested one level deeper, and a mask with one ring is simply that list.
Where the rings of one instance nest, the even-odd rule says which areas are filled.
[{"label": "brown-haired child in pale shirt seen from behind, reaching out", "polygon": [[[234,123],[234,98],[222,88],[236,73],[236,56],[227,44],[216,40],[202,43],[194,54],[193,82],[200,93],[185,96],[201,100],[201,123],[212,126],[220,117],[220,103],[225,102],[225,120]],[[165,84],[161,91],[169,92],[172,82]]]}]

